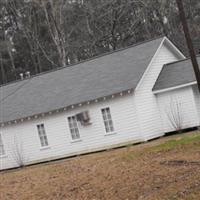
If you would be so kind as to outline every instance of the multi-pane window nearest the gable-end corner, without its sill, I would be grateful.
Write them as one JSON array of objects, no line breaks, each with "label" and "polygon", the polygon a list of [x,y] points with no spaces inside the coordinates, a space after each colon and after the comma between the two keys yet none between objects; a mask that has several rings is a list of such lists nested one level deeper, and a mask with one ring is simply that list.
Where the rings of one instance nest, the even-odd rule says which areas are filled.
[{"label": "multi-pane window nearest the gable-end corner, without its sill", "polygon": [[101,109],[104,126],[106,133],[110,133],[114,131],[113,121],[110,113],[110,108],[103,108]]}]

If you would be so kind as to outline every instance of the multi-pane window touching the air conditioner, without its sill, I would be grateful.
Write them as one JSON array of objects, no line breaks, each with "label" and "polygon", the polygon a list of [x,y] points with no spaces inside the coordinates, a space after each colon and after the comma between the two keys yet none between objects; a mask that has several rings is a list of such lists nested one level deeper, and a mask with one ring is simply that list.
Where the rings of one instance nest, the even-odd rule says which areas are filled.
[{"label": "multi-pane window touching the air conditioner, without its sill", "polygon": [[69,124],[69,129],[70,129],[72,140],[80,139],[76,116],[68,117],[68,124]]}]

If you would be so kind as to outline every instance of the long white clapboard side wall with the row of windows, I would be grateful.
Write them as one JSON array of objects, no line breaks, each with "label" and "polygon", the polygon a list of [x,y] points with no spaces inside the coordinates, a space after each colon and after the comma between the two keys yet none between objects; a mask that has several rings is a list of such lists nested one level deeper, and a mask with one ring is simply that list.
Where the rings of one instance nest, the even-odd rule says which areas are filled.
[{"label": "long white clapboard side wall with the row of windows", "polygon": [[[115,131],[110,135],[106,135],[101,114],[101,109],[105,107],[110,107],[114,123]],[[85,110],[90,113],[92,125],[83,127],[79,124],[81,139],[73,142],[67,118]],[[45,125],[49,142],[49,147],[44,149],[40,146],[37,132],[37,124],[41,123]],[[1,169],[17,165],[13,153],[16,146],[15,136],[19,141],[17,145],[23,147],[21,153],[24,154],[26,163],[56,159],[106,149],[113,145],[141,141],[133,94],[7,126],[1,128],[0,132],[3,134],[6,147],[6,156],[0,158]]]}]

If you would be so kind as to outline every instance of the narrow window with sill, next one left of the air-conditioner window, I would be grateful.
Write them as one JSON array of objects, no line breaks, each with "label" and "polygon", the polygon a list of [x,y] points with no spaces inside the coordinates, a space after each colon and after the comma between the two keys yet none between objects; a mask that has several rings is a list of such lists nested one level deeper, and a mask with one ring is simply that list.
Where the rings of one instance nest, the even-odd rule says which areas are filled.
[{"label": "narrow window with sill, next one left of the air-conditioner window", "polygon": [[49,140],[47,137],[44,123],[37,124],[37,132],[38,132],[38,137],[40,140],[40,148],[41,149],[49,148]]}]

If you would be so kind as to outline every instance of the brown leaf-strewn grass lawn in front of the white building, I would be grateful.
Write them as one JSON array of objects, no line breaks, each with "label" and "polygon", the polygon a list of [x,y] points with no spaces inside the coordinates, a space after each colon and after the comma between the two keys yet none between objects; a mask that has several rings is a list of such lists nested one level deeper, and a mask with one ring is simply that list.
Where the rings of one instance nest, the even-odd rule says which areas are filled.
[{"label": "brown leaf-strewn grass lawn in front of the white building", "polygon": [[1,200],[200,199],[200,132],[0,173]]}]

